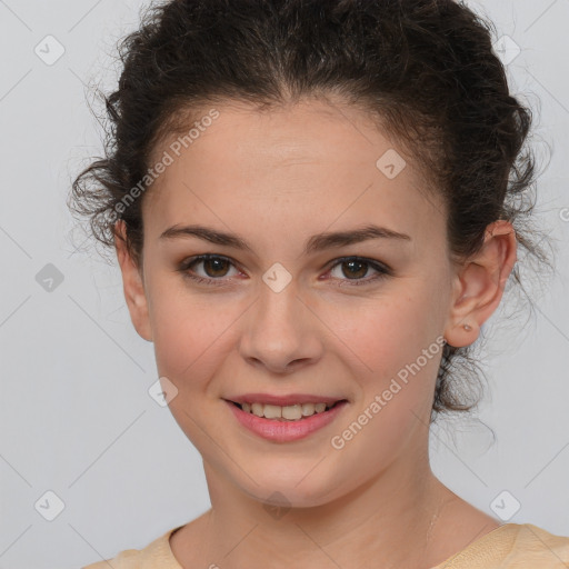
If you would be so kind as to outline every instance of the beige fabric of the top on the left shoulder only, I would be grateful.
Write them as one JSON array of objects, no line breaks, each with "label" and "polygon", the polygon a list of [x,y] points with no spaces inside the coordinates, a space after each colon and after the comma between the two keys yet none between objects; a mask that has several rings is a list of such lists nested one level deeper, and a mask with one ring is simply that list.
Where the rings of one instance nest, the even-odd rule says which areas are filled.
[{"label": "beige fabric of the top on the left shoulder only", "polygon": [[170,549],[170,535],[178,527],[168,530],[143,549],[126,549],[112,559],[104,559],[81,569],[181,569]]}]

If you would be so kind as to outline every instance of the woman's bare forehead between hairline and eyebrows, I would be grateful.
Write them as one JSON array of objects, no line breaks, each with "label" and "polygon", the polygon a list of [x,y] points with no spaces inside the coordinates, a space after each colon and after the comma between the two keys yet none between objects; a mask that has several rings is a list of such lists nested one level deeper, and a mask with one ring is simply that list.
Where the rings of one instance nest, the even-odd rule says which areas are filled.
[{"label": "woman's bare forehead between hairline and eyebrows", "polygon": [[348,104],[204,107],[182,134],[157,146],[154,161],[164,153],[171,163],[143,208],[146,231],[154,237],[196,216],[218,227],[243,227],[241,220],[249,219],[249,228],[251,216],[257,223],[270,217],[276,224],[305,222],[311,229],[335,220],[335,229],[368,221],[416,234],[432,230],[433,216],[443,220],[442,204],[425,187],[412,157],[403,158],[370,114]]}]

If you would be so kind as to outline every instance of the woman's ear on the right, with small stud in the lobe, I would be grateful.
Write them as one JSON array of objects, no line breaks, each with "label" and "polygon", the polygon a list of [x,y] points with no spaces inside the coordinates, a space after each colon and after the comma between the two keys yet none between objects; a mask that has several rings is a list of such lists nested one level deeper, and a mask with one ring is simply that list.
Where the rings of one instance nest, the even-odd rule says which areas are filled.
[{"label": "woman's ear on the right, with small stud in the lobe", "polygon": [[456,276],[453,305],[445,329],[447,343],[460,348],[478,338],[480,327],[500,303],[517,260],[517,243],[509,221],[488,226],[482,249]]}]

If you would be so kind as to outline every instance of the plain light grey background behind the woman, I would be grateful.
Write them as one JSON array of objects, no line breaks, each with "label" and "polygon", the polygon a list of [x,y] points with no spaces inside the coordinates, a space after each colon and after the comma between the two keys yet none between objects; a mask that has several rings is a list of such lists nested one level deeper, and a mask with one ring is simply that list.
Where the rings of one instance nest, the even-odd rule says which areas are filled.
[{"label": "plain light grey background behind the woman", "polygon": [[[512,89],[540,101],[536,143],[552,158],[538,221],[559,242],[558,277],[536,318],[507,325],[485,355],[480,420],[433,428],[432,463],[478,508],[496,516],[491,503],[511,510],[516,499],[509,521],[569,536],[569,0],[469,3],[521,48],[508,66]],[[101,154],[86,86],[114,86],[108,54],[141,6],[0,0],[0,568],[78,568],[209,508],[199,453],[148,395],[153,349],[132,328],[120,272],[81,244],[64,204],[72,177]],[[66,50],[53,64],[34,52],[48,34]],[[48,263],[63,276],[51,291]],[[64,503],[53,521],[47,491]]]}]

